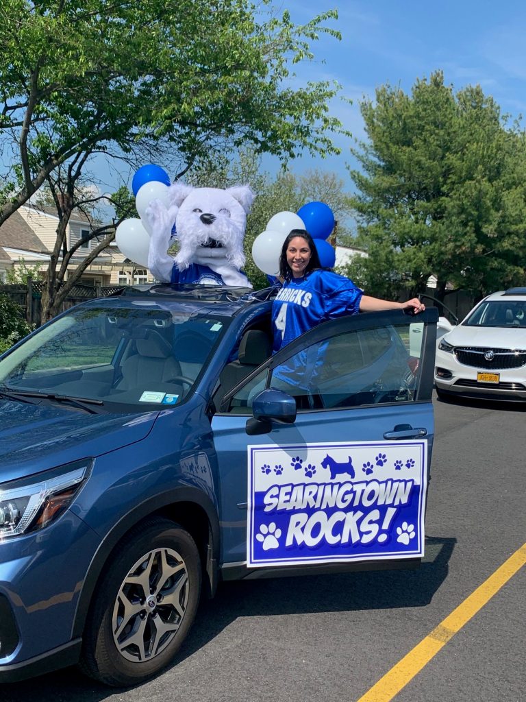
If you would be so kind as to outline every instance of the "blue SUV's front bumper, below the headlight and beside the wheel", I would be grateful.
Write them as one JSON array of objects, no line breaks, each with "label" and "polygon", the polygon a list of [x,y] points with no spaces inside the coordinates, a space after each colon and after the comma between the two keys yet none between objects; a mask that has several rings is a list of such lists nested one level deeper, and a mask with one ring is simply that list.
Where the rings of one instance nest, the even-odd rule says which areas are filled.
[{"label": "blue SUV's front bumper, below the headlight and beside the wheel", "polygon": [[67,511],[42,531],[0,542],[0,682],[79,660],[72,629],[99,541]]}]

